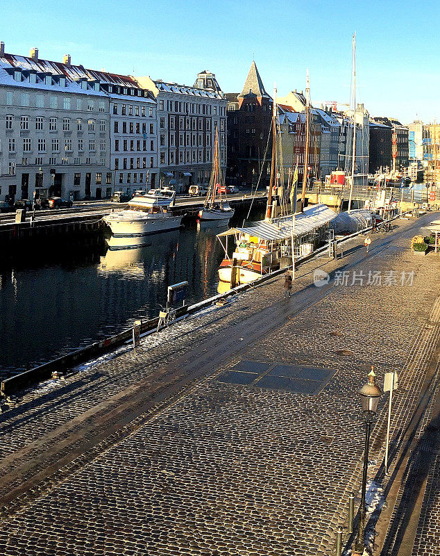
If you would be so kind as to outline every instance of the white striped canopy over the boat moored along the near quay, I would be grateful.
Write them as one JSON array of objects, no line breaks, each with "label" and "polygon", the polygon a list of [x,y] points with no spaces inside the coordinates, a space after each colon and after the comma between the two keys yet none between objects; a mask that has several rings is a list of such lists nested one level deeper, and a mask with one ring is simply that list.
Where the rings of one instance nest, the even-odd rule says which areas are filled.
[{"label": "white striped canopy over the boat moored along the near quay", "polygon": [[[303,213],[295,215],[295,227],[293,228],[293,217],[282,216],[260,222],[251,222],[246,227],[230,228],[218,234],[218,238],[222,236],[232,236],[233,234],[248,234],[262,240],[283,240],[294,237],[305,236],[310,234],[317,228],[321,228],[328,224],[330,220],[336,218],[336,214],[325,204],[316,204],[305,208]],[[293,231],[293,234],[292,234]]]}]

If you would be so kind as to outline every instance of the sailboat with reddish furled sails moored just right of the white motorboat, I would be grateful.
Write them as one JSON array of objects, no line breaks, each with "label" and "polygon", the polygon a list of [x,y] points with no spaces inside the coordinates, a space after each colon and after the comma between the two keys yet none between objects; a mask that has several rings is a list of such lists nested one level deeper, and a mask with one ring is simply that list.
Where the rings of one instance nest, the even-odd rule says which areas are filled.
[{"label": "sailboat with reddish furled sails moored just right of the white motorboat", "polygon": [[214,157],[212,158],[212,172],[210,186],[206,195],[205,204],[198,212],[200,220],[230,220],[234,215],[235,208],[232,208],[226,199],[226,193],[221,193],[224,186],[221,167],[219,165],[219,133],[215,129]]}]

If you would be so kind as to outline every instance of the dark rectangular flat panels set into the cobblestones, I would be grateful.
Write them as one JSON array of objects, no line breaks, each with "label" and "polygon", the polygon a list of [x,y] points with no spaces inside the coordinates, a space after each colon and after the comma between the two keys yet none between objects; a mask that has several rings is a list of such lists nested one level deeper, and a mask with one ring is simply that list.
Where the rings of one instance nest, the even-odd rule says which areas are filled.
[{"label": "dark rectangular flat panels set into the cobblestones", "polygon": [[318,367],[240,361],[217,380],[252,388],[316,395],[335,373],[335,370]]}]

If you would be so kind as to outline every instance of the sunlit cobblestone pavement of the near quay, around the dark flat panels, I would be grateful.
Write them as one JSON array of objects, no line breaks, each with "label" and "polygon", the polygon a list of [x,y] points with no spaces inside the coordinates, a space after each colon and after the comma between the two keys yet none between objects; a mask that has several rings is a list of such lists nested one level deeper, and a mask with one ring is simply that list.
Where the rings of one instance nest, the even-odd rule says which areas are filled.
[{"label": "sunlit cobblestone pavement of the near quay, around the dark flat panels", "polygon": [[[41,491],[33,487],[19,505],[6,507],[0,553],[330,554],[344,493],[359,478],[356,390],[370,364],[379,383],[384,372],[400,371],[396,442],[439,341],[440,259],[408,249],[409,238],[434,218],[400,222],[395,234],[375,238],[368,256],[356,240],[342,261],[304,265],[290,300],[281,299],[282,279],[273,279],[144,338],[138,359],[119,350],[65,384],[26,393],[17,409],[0,416],[2,484],[19,486],[35,470],[44,482],[60,454],[73,461]],[[316,288],[315,268],[339,268],[350,277]],[[412,286],[360,286],[359,275],[352,284],[353,270],[365,281],[379,270],[416,276]],[[243,359],[336,373],[315,395],[218,380]],[[162,383],[175,386],[172,395],[164,389],[144,408],[141,394]],[[94,419],[129,407],[130,395],[138,396],[131,406],[137,413],[119,425],[127,435],[96,436]],[[373,456],[381,454],[384,403]],[[85,440],[88,450],[81,448]],[[44,457],[51,450],[54,460]]]}]

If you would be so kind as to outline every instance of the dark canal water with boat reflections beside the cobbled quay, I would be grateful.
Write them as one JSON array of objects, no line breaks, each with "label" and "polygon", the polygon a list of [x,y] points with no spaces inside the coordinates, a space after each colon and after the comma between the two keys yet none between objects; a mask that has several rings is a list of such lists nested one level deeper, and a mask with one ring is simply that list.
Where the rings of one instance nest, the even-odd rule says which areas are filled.
[{"label": "dark canal water with boat reflections beside the cobbled quay", "polygon": [[[237,212],[230,225],[245,217]],[[192,222],[120,251],[51,253],[46,245],[0,268],[0,379],[158,316],[170,284],[189,282],[188,304],[215,295],[223,229]]]}]

